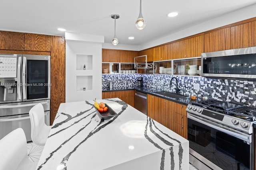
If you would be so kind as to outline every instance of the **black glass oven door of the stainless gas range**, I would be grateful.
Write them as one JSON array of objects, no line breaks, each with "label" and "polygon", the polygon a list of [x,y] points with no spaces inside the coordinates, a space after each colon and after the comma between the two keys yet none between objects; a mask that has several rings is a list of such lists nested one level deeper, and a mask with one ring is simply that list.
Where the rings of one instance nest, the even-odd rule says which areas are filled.
[{"label": "black glass oven door of the stainless gas range", "polygon": [[212,169],[252,170],[252,135],[235,133],[188,113],[190,154]]}]

